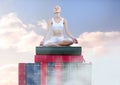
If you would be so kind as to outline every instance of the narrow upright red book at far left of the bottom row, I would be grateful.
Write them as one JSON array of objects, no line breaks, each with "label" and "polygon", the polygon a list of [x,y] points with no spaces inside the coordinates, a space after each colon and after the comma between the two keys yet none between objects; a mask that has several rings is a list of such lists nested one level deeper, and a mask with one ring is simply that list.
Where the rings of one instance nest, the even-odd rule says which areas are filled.
[{"label": "narrow upright red book at far left of the bottom row", "polygon": [[26,85],[26,64],[19,63],[19,85]]}]

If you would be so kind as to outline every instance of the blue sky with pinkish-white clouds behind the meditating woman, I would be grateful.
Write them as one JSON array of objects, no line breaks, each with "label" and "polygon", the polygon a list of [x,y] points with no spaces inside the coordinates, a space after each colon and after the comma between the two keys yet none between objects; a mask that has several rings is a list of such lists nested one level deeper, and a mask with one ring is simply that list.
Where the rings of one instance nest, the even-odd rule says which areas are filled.
[{"label": "blue sky with pinkish-white clouds behind the meditating woman", "polygon": [[34,62],[55,5],[93,64],[92,84],[120,85],[119,0],[0,0],[0,85],[17,85],[18,63]]}]

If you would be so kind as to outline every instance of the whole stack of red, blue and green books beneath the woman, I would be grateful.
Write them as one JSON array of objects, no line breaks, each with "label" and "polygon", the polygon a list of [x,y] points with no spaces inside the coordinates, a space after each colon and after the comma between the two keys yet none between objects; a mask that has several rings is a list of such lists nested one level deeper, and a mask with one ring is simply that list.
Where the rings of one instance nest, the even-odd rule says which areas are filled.
[{"label": "whole stack of red, blue and green books beneath the woman", "polygon": [[91,85],[91,63],[81,53],[81,47],[36,47],[35,63],[19,63],[19,85]]}]

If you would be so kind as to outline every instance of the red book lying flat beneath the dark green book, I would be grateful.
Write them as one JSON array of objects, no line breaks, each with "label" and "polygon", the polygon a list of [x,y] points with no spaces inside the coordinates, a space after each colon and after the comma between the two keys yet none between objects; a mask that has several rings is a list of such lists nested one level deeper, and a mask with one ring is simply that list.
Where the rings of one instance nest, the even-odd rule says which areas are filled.
[{"label": "red book lying flat beneath the dark green book", "polygon": [[81,55],[35,55],[35,62],[84,62]]}]

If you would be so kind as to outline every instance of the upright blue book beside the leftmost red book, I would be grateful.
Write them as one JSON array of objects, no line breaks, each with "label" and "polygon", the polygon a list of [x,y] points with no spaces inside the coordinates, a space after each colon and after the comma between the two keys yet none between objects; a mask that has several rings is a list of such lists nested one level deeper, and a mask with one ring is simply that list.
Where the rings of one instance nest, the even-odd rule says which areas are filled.
[{"label": "upright blue book beside the leftmost red book", "polygon": [[26,85],[40,85],[39,63],[26,63]]}]

